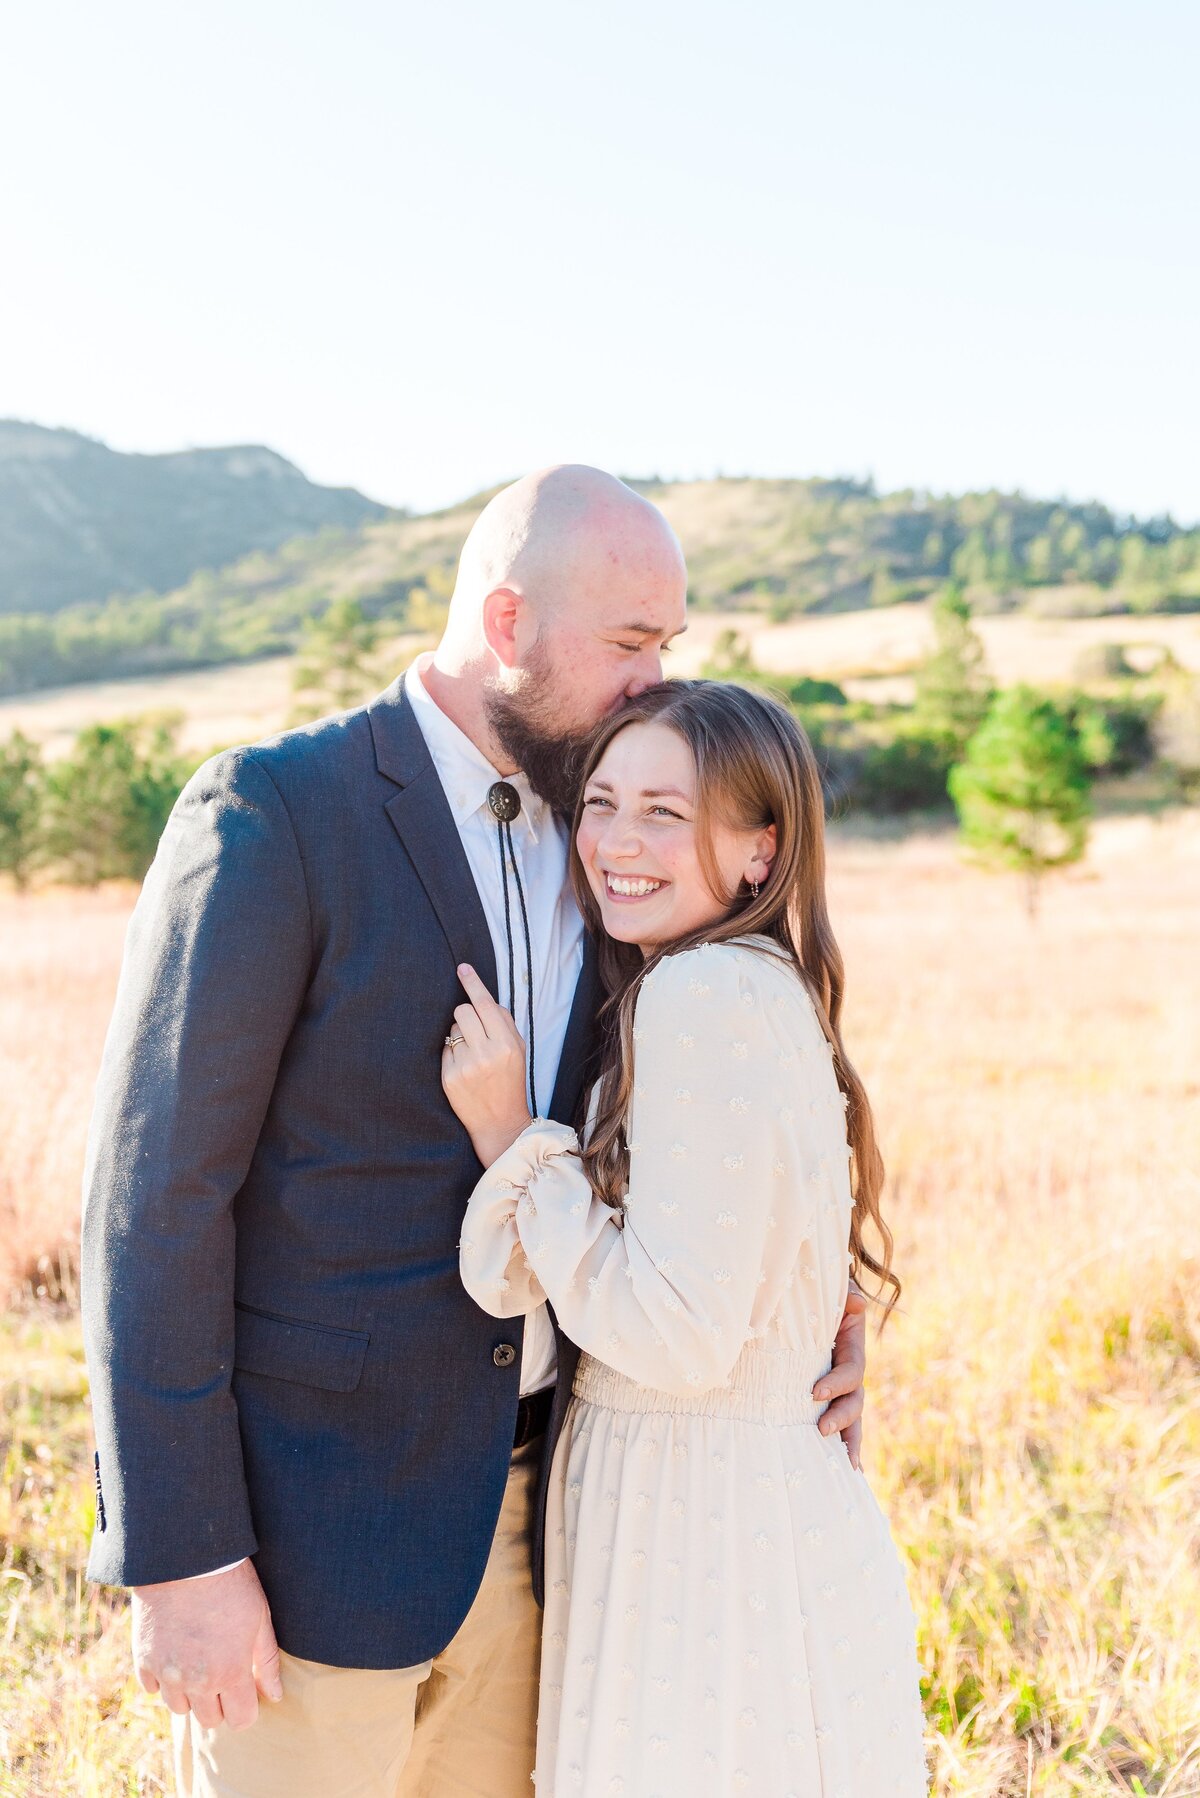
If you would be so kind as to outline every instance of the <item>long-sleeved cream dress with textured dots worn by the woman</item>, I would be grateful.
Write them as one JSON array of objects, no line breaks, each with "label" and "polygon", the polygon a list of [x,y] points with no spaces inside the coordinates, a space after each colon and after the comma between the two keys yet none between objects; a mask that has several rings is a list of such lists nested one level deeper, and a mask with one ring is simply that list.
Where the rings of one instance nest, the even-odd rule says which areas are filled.
[{"label": "long-sleeved cream dress with textured dots worn by the woman", "polygon": [[547,1122],[466,1212],[471,1296],[502,1318],[549,1298],[583,1348],[538,1798],[927,1791],[900,1557],[811,1399],[846,1304],[846,1100],[804,985],[756,940],[642,985],[622,1212]]}]

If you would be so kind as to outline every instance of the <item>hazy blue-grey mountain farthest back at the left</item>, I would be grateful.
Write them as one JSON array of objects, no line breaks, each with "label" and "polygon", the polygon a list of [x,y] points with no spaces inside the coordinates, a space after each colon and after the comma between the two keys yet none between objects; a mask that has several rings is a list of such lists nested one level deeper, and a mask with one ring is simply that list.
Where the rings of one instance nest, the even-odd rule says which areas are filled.
[{"label": "hazy blue-grey mountain farthest back at the left", "polygon": [[122,455],[0,419],[0,613],[169,592],[196,568],[381,516],[374,500],[317,487],[257,444]]}]

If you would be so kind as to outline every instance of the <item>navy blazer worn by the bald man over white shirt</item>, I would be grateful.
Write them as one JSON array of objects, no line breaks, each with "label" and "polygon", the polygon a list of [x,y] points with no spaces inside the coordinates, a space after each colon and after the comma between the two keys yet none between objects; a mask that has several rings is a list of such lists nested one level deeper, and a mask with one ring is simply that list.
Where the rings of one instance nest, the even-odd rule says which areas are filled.
[{"label": "navy blazer worn by the bald man over white shirt", "polygon": [[[92,1579],[254,1555],[281,1645],[338,1667],[410,1667],[459,1629],[520,1377],[520,1320],[459,1278],[480,1167],[441,1050],[464,960],[495,991],[399,683],[218,755],[182,793],[130,924],[88,1142]],[[597,1003],[588,951],[560,1120]],[[560,1332],[543,1494],[574,1361]]]}]

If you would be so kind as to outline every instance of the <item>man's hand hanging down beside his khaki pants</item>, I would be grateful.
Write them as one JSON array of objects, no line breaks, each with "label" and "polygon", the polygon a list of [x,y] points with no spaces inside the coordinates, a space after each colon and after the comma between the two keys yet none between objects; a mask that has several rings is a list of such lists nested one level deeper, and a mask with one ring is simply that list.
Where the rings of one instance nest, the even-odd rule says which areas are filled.
[{"label": "man's hand hanging down beside his khaki pants", "polygon": [[250,1561],[209,1579],[133,1588],[133,1665],[148,1692],[214,1730],[248,1730],[259,1692],[279,1703],[279,1645]]}]

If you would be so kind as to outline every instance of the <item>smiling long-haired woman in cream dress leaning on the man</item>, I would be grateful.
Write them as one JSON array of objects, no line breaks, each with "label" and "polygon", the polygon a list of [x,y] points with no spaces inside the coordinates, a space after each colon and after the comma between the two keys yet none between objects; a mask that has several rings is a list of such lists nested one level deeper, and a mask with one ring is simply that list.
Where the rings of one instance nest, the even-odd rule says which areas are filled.
[{"label": "smiling long-haired woman in cream dress leaning on the man", "polygon": [[847,1275],[889,1305],[900,1284],[790,714],[707,681],[631,701],[588,761],[574,879],[608,989],[583,1142],[529,1118],[522,1041],[470,969],[443,1066],[488,1167],[466,1287],[495,1316],[549,1298],[583,1348],[551,1480],[538,1798],[914,1798],[900,1561],[813,1428]]}]

